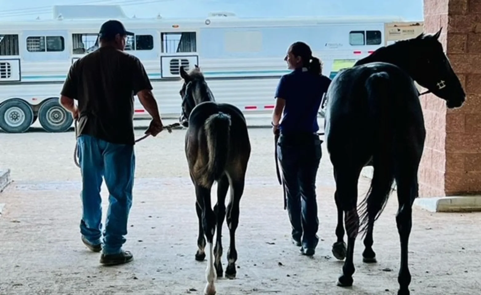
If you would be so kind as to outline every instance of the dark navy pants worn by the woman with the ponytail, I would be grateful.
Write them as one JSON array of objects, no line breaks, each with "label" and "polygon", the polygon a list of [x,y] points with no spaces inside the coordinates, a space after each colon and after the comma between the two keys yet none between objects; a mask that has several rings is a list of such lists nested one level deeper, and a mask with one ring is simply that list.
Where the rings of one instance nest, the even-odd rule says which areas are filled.
[{"label": "dark navy pants worn by the woman with the ponytail", "polygon": [[292,238],[304,248],[316,248],[317,230],[316,174],[322,157],[319,135],[280,134],[278,160],[287,196]]}]

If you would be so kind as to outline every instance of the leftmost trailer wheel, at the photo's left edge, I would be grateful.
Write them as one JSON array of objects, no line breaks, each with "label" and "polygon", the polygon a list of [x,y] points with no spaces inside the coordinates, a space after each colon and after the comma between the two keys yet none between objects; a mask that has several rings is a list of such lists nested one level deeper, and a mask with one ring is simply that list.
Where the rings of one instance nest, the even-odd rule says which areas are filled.
[{"label": "leftmost trailer wheel, at the photo's left edge", "polygon": [[7,100],[0,105],[0,128],[8,133],[23,133],[33,123],[33,110],[21,99]]}]

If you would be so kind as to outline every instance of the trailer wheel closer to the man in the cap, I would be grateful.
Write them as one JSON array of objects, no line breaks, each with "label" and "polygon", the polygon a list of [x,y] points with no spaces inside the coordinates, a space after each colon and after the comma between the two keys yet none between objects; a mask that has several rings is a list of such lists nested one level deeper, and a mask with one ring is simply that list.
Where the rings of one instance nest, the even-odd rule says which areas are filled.
[{"label": "trailer wheel closer to the man in the cap", "polygon": [[38,110],[38,121],[47,132],[65,132],[72,126],[74,119],[57,98],[51,98]]}]

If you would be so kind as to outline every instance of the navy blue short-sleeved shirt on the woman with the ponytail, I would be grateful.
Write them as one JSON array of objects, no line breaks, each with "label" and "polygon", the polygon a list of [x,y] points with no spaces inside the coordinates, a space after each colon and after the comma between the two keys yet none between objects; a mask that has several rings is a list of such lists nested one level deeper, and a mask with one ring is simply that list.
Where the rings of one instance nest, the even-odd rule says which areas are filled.
[{"label": "navy blue short-sleeved shirt on the woman with the ponytail", "polygon": [[276,98],[286,100],[279,129],[282,133],[314,133],[319,130],[317,112],[331,79],[299,68],[280,78]]}]

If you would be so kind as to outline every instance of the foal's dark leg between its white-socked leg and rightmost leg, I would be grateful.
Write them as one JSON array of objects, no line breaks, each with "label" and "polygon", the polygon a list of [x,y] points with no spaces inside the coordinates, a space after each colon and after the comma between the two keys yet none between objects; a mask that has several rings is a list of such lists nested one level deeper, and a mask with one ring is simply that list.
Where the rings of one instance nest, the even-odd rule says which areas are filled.
[{"label": "foal's dark leg between its white-socked leg and rightmost leg", "polygon": [[226,195],[229,189],[229,180],[227,175],[224,174],[222,178],[217,183],[217,204],[214,206],[215,216],[217,218],[217,234],[215,235],[215,247],[214,247],[214,266],[217,272],[217,277],[222,277],[224,275],[224,270],[222,270],[222,224],[226,217]]}]

